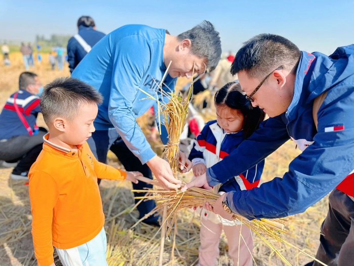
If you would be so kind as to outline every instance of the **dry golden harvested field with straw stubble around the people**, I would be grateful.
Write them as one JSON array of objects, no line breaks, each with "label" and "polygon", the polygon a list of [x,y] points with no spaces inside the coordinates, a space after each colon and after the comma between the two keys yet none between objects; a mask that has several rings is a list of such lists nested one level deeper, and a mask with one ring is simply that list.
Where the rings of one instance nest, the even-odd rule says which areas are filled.
[{"label": "dry golden harvested field with straw stubble around the people", "polygon": [[[50,69],[48,55],[42,55],[42,65],[30,69],[39,75],[43,85],[53,79],[68,76],[67,65],[64,71]],[[19,53],[10,54],[12,65],[0,65],[0,105],[3,106],[7,97],[18,89],[19,74],[24,71],[22,57]],[[185,83],[179,81],[179,86]],[[1,108],[1,107],[0,107]],[[144,126],[146,117],[140,119]],[[39,118],[39,126],[45,124]],[[148,132],[144,129],[144,132]],[[160,148],[160,142],[152,143]],[[299,154],[295,144],[285,143],[276,153],[270,156],[265,163],[263,177],[267,180],[275,176],[282,176],[288,169],[289,162]],[[109,154],[109,164],[119,167],[119,162],[113,154]],[[31,213],[28,200],[28,186],[23,181],[9,179],[12,169],[0,169],[0,265],[36,265],[31,238]],[[183,178],[188,181],[191,174]],[[130,227],[138,220],[138,211],[133,209],[134,199],[130,192],[131,184],[128,181],[103,180],[100,185],[103,208],[106,215],[105,229],[108,241],[109,265],[158,265],[160,233],[158,228],[143,223],[134,229]],[[289,243],[315,255],[319,244],[319,231],[322,220],[327,212],[327,198],[305,213],[288,218],[288,234],[282,238]],[[184,209],[177,216],[177,231],[169,235],[165,241],[163,253],[164,265],[196,265],[198,262],[199,246],[199,214],[191,209]],[[153,236],[157,235],[153,238]],[[175,248],[172,251],[173,236]],[[301,254],[295,248],[284,243],[267,238],[291,265],[303,265],[311,258]],[[220,240],[220,256],[218,265],[233,265],[227,255],[228,245],[225,235]],[[285,265],[259,237],[254,237],[253,257],[254,265]],[[56,263],[61,265],[60,262]]]}]

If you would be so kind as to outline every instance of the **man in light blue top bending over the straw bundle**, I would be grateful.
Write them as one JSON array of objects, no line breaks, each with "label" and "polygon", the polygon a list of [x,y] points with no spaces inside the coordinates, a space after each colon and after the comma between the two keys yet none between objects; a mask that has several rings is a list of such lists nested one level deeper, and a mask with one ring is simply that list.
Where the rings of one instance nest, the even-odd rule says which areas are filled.
[{"label": "man in light blue top bending over the straw bundle", "polygon": [[[173,177],[169,164],[156,156],[136,118],[156,105],[147,94],[167,103],[176,78],[191,78],[193,68],[195,73],[215,68],[220,54],[218,32],[208,21],[178,36],[145,25],[122,26],[106,35],[72,72],[73,78],[92,85],[104,97],[94,122],[96,131],[87,141],[98,160],[106,162],[109,147],[120,136],[124,153],[120,157],[116,154],[127,171],[139,169],[149,178],[152,171],[166,188],[180,187],[181,181]],[[167,143],[166,134],[162,140]],[[186,156],[181,159],[185,165]],[[149,186],[140,182],[134,187]],[[142,202],[140,216],[154,206],[153,201]],[[157,224],[154,217],[147,222]]]}]

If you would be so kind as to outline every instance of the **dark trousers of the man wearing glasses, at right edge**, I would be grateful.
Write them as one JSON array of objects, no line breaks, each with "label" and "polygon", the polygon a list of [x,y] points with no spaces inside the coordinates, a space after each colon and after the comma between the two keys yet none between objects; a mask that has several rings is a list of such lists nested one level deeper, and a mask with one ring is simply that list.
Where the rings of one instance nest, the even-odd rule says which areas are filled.
[{"label": "dark trousers of the man wearing glasses, at right edge", "polygon": [[328,266],[354,265],[354,201],[338,189],[329,196],[329,211],[321,233],[318,260]]}]

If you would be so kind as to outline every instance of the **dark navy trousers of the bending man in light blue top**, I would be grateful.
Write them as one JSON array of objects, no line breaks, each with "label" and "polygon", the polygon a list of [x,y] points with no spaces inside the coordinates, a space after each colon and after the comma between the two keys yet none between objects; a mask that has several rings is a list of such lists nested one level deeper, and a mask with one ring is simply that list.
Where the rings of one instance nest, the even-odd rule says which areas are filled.
[{"label": "dark navy trousers of the bending man in light blue top", "polygon": [[[97,130],[92,133],[92,138],[87,140],[89,146],[99,162],[106,163],[107,153],[110,149],[117,156],[118,160],[122,163],[126,171],[139,171],[145,177],[152,179],[150,168],[140,162],[140,160],[129,150],[124,141],[119,137],[118,133],[114,130]],[[100,181],[100,179],[99,179]],[[134,189],[150,188],[152,185],[139,181],[138,184],[132,183]],[[135,197],[144,196],[144,193],[134,193]],[[139,200],[135,200],[137,203]],[[137,209],[139,210],[140,218],[149,213],[155,208],[155,201],[143,201]],[[158,217],[150,216],[145,221],[152,222],[157,220]]]}]

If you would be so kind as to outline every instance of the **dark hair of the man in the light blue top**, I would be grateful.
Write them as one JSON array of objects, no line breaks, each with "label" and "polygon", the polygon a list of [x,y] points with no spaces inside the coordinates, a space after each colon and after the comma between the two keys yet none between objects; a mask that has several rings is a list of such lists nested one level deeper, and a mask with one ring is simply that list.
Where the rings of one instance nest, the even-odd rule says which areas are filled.
[{"label": "dark hair of the man in the light blue top", "polygon": [[191,54],[206,59],[207,68],[213,70],[222,53],[219,32],[209,21],[204,20],[199,25],[177,36],[179,41],[191,40]]}]

